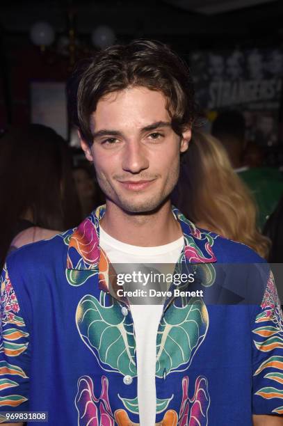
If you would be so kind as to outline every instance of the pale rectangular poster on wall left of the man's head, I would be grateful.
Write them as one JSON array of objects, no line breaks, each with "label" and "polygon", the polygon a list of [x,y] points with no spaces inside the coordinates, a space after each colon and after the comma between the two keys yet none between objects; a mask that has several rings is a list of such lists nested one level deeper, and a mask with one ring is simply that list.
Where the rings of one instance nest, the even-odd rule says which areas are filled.
[{"label": "pale rectangular poster on wall left of the man's head", "polygon": [[65,83],[60,81],[31,81],[31,123],[54,129],[67,139],[67,100]]}]

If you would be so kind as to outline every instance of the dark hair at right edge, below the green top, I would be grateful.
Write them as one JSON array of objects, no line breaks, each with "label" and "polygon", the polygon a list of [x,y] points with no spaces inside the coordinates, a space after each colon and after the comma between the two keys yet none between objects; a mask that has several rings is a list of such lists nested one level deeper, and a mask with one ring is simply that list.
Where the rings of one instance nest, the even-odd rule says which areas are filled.
[{"label": "dark hair at right edge, below the green top", "polygon": [[283,263],[283,196],[264,226],[264,235],[271,239],[270,263]]}]

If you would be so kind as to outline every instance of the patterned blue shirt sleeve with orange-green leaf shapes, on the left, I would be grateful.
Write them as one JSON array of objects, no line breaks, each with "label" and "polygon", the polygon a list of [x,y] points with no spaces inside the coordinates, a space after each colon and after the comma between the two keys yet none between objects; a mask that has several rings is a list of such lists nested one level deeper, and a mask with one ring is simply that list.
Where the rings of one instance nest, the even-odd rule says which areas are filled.
[{"label": "patterned blue shirt sleeve with orange-green leaf shapes, on the left", "polygon": [[29,332],[6,265],[1,274],[0,318],[0,411],[29,411]]}]

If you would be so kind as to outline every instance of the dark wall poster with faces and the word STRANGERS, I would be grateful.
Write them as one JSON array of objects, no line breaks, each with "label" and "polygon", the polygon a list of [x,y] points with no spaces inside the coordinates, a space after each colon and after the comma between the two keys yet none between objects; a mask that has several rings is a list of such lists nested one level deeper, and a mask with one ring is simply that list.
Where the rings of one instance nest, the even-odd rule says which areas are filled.
[{"label": "dark wall poster with faces and the word STRANGERS", "polygon": [[249,141],[262,146],[278,143],[282,49],[193,52],[190,66],[204,111],[216,116],[218,111],[238,109],[245,116]]}]

